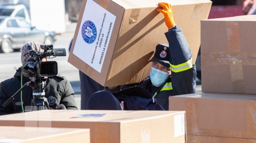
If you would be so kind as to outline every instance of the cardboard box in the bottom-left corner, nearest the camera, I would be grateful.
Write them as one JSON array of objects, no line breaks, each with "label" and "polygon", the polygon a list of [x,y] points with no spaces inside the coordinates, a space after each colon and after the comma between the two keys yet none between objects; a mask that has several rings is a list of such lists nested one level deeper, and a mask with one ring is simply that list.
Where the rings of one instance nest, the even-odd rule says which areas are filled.
[{"label": "cardboard box in the bottom-left corner, nearest the camera", "polygon": [[90,143],[90,129],[1,126],[1,143]]}]

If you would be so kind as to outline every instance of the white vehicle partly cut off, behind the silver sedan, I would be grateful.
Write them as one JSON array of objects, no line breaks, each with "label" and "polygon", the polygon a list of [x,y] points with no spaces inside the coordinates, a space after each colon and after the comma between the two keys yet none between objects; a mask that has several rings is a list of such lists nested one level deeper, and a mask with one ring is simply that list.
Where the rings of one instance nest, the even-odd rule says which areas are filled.
[{"label": "white vehicle partly cut off, behind the silver sedan", "polygon": [[0,16],[23,17],[30,23],[30,16],[28,15],[27,8],[22,4],[0,5]]}]

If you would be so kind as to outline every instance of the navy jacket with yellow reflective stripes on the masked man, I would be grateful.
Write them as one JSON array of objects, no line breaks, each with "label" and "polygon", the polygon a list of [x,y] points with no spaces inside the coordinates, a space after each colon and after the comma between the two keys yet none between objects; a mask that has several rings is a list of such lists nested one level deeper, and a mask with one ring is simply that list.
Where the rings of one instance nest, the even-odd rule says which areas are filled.
[{"label": "navy jacket with yellow reflective stripes on the masked man", "polygon": [[[171,77],[162,86],[151,91],[151,95],[165,110],[169,110],[169,96],[195,93],[196,67],[192,64],[192,53],[182,30],[176,26],[166,32],[165,36],[171,54]],[[121,90],[134,86],[146,89],[150,85],[148,77],[138,84],[124,85]]]}]

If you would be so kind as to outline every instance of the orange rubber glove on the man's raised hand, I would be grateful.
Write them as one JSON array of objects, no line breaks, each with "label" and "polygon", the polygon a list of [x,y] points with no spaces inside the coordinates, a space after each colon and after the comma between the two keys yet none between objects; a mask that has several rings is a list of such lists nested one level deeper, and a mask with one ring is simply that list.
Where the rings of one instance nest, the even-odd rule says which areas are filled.
[{"label": "orange rubber glove on the man's raised hand", "polygon": [[160,3],[158,3],[158,5],[161,6],[162,8],[164,8],[164,10],[161,10],[160,8],[156,8],[156,11],[164,14],[165,24],[168,27],[168,30],[172,26],[176,26],[176,24],[174,22],[173,14],[172,14],[172,6],[165,2],[160,2]]}]

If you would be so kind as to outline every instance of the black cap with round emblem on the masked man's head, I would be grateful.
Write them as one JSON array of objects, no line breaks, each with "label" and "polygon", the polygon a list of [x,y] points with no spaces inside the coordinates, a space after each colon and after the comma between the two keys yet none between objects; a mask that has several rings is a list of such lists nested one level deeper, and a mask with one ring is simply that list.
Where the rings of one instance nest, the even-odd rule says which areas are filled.
[{"label": "black cap with round emblem on the masked man's head", "polygon": [[156,45],[154,57],[150,59],[150,62],[157,62],[169,68],[170,57],[171,55],[170,55],[169,46],[167,44],[158,44]]}]

